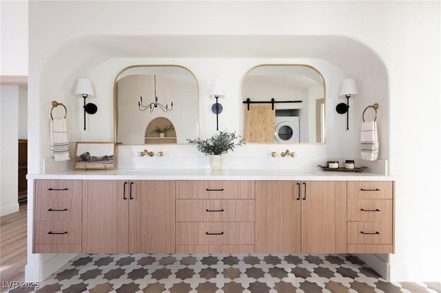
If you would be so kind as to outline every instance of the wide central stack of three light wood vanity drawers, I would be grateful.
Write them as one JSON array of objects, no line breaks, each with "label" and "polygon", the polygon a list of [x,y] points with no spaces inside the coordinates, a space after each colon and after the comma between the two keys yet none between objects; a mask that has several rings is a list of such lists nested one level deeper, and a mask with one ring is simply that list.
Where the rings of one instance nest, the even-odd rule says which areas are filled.
[{"label": "wide central stack of three light wood vanity drawers", "polygon": [[253,252],[253,181],[176,181],[176,253]]}]

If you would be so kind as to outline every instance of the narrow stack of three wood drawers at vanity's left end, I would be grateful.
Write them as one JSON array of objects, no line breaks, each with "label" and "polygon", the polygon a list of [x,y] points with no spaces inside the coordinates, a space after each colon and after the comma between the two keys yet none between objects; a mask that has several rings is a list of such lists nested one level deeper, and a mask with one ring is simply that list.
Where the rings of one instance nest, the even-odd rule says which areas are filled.
[{"label": "narrow stack of three wood drawers at vanity's left end", "polygon": [[36,180],[34,253],[81,252],[81,180]]}]

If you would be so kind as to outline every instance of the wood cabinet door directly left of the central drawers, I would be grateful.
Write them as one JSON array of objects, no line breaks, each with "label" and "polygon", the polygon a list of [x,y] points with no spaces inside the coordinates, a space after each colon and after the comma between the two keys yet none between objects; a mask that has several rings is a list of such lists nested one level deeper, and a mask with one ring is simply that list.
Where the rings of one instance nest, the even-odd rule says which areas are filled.
[{"label": "wood cabinet door directly left of the central drawers", "polygon": [[174,253],[174,181],[134,181],[129,188],[129,253]]}]

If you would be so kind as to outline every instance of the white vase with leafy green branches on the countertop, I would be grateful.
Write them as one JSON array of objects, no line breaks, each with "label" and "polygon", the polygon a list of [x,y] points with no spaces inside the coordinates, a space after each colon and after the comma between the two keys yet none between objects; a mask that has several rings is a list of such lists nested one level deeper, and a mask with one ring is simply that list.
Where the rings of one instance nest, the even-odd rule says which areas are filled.
[{"label": "white vase with leafy green branches on the countertop", "polygon": [[[220,170],[222,168],[223,158],[221,155],[227,153],[229,150],[233,151],[236,146],[245,144],[239,135],[236,133],[228,133],[220,131],[211,138],[201,140],[196,138],[195,140],[187,139],[189,144],[196,144],[196,148],[205,155],[212,155],[210,159],[210,166],[212,170]],[[218,162],[220,160],[220,163]]]}]

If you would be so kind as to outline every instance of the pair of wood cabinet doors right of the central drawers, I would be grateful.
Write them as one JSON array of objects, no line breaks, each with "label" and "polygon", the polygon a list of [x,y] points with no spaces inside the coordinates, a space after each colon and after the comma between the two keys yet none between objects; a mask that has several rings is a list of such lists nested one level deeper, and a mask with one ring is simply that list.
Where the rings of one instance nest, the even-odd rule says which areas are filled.
[{"label": "pair of wood cabinet doors right of the central drawers", "polygon": [[344,253],[347,183],[256,181],[256,253]]}]

